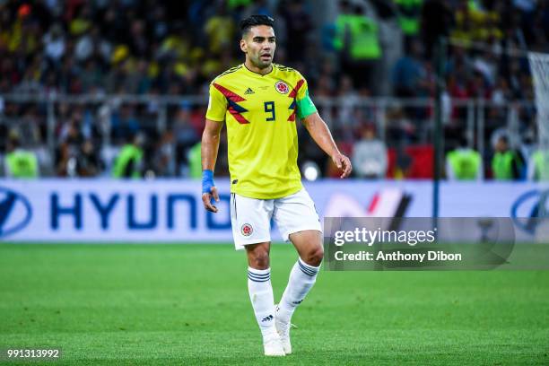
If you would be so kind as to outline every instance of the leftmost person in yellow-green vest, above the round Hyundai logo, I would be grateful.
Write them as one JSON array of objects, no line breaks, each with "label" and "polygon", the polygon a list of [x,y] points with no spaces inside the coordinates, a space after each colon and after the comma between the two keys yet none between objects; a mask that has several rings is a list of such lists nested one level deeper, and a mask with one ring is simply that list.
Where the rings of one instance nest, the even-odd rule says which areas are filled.
[{"label": "leftmost person in yellow-green vest, above the round Hyundai logo", "polygon": [[39,177],[39,164],[35,153],[23,149],[17,135],[8,139],[7,153],[4,157],[5,176],[18,179]]}]

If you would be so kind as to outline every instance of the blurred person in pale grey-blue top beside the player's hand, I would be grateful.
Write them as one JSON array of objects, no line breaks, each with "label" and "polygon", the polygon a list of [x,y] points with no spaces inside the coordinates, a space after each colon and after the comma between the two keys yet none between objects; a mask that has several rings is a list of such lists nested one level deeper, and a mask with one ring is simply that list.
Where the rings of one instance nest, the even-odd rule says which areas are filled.
[{"label": "blurred person in pale grey-blue top beside the player's hand", "polygon": [[353,170],[360,178],[385,178],[387,173],[387,146],[376,138],[375,127],[362,128],[362,139],[354,144]]}]

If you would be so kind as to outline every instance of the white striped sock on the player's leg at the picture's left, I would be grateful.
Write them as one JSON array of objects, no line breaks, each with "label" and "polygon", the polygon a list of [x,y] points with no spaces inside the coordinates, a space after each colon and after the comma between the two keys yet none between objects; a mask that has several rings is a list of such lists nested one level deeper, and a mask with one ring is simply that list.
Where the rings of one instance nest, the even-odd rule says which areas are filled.
[{"label": "white striped sock on the player's leg at the picture's left", "polygon": [[248,266],[248,292],[263,339],[276,336],[271,268],[255,269]]}]

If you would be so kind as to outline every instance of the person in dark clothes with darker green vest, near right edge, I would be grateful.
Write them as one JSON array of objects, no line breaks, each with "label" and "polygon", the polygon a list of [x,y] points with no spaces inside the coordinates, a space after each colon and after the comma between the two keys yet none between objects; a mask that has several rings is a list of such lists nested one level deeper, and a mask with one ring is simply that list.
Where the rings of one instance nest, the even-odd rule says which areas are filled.
[{"label": "person in dark clothes with darker green vest, near right edge", "polygon": [[492,174],[496,180],[518,180],[524,162],[520,154],[510,149],[509,138],[501,135],[495,145],[492,158]]}]

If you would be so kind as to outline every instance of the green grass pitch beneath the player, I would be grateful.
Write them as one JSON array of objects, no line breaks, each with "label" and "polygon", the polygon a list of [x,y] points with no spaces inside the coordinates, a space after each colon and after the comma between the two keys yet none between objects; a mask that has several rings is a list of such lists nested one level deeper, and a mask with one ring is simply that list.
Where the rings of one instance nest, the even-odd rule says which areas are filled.
[{"label": "green grass pitch beneath the player", "polygon": [[[276,300],[295,259],[274,245]],[[0,348],[78,365],[549,364],[549,272],[322,271],[294,353],[266,359],[246,268],[231,244],[2,244]]]}]

